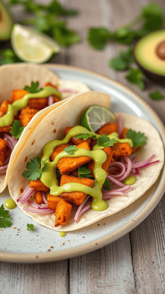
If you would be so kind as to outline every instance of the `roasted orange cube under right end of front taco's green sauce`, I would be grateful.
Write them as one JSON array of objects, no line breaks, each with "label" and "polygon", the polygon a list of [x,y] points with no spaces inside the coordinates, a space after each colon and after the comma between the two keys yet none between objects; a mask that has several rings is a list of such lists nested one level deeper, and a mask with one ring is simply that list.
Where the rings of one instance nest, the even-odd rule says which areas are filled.
[{"label": "roasted orange cube under right end of front taco's green sauce", "polygon": [[132,153],[131,146],[128,143],[115,143],[111,150],[113,157],[129,156]]}]

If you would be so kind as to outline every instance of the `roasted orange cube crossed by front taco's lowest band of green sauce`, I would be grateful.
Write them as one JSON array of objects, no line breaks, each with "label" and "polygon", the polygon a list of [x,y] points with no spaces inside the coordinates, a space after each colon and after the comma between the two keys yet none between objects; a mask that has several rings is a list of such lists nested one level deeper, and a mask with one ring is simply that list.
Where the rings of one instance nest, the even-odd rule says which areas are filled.
[{"label": "roasted orange cube crossed by front taco's lowest band of green sauce", "polygon": [[[93,187],[94,185],[94,180],[90,179],[90,178],[77,178],[77,177],[70,177],[68,175],[63,175],[61,177],[61,181],[60,181],[60,186],[67,184],[67,183],[80,183],[83,184],[85,186],[88,187]],[[61,193],[60,196],[62,196],[63,198],[65,198],[66,200],[68,200],[69,202],[75,204],[75,205],[80,205],[81,203],[83,203],[83,201],[85,200],[85,198],[87,197],[87,194],[84,192],[64,192]]]}]

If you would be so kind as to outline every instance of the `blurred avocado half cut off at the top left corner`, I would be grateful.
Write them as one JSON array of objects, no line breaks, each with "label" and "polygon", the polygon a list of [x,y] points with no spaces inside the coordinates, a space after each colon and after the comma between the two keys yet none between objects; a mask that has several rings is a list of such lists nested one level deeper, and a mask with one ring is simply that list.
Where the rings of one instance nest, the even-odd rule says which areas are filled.
[{"label": "blurred avocado half cut off at the top left corner", "polygon": [[10,38],[13,20],[9,11],[0,1],[0,41],[7,41]]}]

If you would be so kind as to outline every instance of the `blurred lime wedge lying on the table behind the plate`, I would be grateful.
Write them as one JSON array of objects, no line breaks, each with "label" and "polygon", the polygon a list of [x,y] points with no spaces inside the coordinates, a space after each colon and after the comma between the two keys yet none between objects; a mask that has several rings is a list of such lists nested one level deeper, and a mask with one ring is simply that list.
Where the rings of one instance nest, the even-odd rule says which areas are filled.
[{"label": "blurred lime wedge lying on the table behind the plate", "polygon": [[60,52],[60,45],[49,36],[27,26],[15,24],[11,33],[14,52],[23,61],[43,63],[53,53]]}]

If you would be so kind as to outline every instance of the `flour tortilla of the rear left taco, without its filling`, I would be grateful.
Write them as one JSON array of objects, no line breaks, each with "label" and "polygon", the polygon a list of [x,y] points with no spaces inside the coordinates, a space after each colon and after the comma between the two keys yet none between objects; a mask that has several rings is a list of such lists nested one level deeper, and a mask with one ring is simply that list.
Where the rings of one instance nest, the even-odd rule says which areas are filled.
[{"label": "flour tortilla of the rear left taco, without its filling", "polygon": [[[24,88],[25,85],[31,85],[31,81],[38,81],[40,84],[50,82],[54,85],[58,85],[60,88],[71,88],[76,90],[78,93],[89,91],[90,89],[81,82],[76,81],[65,81],[60,79],[53,71],[49,71],[43,66],[18,63],[18,64],[7,64],[0,66],[0,104],[6,99],[10,100],[11,92],[15,89]],[[66,96],[67,94],[67,96]],[[62,93],[62,98],[70,99],[73,96],[72,93]],[[6,174],[0,175],[0,193],[4,191],[7,186],[8,176],[10,167],[15,160],[19,146],[23,145],[26,138],[33,131],[34,127],[54,108],[60,106],[65,100],[56,102],[49,107],[42,109],[38,112],[28,123],[28,126],[24,129],[18,143],[16,144],[13,152],[11,153],[8,169]]]}]

